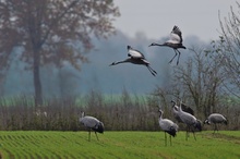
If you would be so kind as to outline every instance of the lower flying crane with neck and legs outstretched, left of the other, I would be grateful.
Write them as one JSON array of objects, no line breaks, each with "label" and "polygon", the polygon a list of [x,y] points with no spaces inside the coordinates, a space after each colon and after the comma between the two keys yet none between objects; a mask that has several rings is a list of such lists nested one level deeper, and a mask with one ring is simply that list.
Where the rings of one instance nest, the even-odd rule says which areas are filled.
[{"label": "lower flying crane with neck and legs outstretched, left of the other", "polygon": [[110,65],[117,65],[120,63],[133,63],[133,64],[141,64],[141,65],[145,65],[149,72],[155,76],[157,74],[157,72],[155,70],[153,70],[149,65],[149,62],[146,61],[144,54],[142,52],[140,52],[139,50],[133,49],[131,46],[128,46],[128,59],[123,60],[123,61],[119,61],[119,62],[112,62]]}]

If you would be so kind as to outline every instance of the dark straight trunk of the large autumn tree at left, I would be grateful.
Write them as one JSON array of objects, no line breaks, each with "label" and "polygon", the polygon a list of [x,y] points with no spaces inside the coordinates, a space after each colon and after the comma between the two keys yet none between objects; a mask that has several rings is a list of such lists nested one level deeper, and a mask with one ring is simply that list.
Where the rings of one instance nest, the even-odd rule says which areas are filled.
[{"label": "dark straight trunk of the large autumn tree at left", "polygon": [[35,106],[39,107],[43,105],[43,93],[41,93],[41,83],[40,83],[40,52],[38,49],[34,49],[34,88],[35,88]]}]

